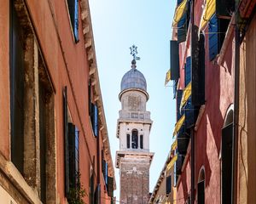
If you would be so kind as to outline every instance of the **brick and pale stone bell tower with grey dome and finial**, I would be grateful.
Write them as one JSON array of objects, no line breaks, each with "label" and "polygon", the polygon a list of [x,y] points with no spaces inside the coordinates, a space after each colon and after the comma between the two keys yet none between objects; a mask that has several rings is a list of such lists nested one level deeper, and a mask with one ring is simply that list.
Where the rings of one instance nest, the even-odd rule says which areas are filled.
[{"label": "brick and pale stone bell tower with grey dome and finial", "polygon": [[147,111],[147,82],[137,70],[137,47],[131,47],[131,70],[121,81],[119,100],[122,109],[117,122],[119,151],[116,167],[119,168],[120,198],[127,204],[146,204],[149,199],[149,167],[154,153],[149,152],[149,133],[152,125]]}]

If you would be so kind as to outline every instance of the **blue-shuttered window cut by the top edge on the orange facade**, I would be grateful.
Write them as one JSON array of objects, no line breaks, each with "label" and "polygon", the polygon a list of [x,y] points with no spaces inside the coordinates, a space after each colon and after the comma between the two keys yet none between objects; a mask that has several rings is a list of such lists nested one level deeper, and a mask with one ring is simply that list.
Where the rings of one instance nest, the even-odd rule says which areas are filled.
[{"label": "blue-shuttered window cut by the top edge on the orange facade", "polygon": [[67,0],[69,17],[75,42],[79,42],[79,0]]}]

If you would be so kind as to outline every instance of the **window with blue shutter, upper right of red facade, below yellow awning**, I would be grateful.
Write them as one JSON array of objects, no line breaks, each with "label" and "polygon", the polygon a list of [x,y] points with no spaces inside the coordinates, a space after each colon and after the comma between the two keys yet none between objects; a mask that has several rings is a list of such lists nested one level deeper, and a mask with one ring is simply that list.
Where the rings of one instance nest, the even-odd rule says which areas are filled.
[{"label": "window with blue shutter, upper right of red facade, below yellow awning", "polygon": [[216,14],[213,14],[209,21],[209,59],[211,61],[220,52],[229,23],[230,20],[218,19]]}]

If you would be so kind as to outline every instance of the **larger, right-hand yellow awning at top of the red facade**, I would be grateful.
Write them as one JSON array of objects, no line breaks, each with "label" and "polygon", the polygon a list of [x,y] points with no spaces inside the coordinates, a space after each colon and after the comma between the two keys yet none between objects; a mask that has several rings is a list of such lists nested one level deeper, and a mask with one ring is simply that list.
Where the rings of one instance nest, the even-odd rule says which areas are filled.
[{"label": "larger, right-hand yellow awning at top of the red facade", "polygon": [[203,14],[201,16],[199,30],[203,29],[207,25],[207,22],[212,18],[212,14],[215,13],[215,9],[216,9],[216,0],[207,0]]}]

